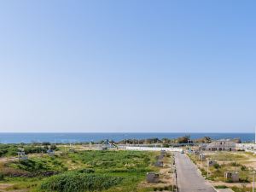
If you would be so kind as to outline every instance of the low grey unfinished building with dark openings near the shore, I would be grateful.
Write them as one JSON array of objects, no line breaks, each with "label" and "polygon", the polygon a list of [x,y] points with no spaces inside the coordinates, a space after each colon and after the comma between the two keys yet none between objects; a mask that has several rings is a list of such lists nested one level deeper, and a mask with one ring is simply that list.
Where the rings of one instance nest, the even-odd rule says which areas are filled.
[{"label": "low grey unfinished building with dark openings near the shore", "polygon": [[206,143],[201,145],[203,151],[235,151],[236,143],[230,140],[218,140],[212,143]]}]

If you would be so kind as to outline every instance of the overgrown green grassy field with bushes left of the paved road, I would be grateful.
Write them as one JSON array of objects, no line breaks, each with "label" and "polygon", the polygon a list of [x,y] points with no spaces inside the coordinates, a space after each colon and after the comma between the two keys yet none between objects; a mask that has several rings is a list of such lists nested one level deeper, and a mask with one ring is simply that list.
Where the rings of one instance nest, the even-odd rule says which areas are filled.
[{"label": "overgrown green grassy field with bushes left of the paved road", "polygon": [[[143,185],[154,167],[157,152],[122,150],[59,151],[31,154],[28,160],[0,161],[0,191],[32,192],[146,192],[157,190]],[[63,187],[64,186],[64,187]]]}]

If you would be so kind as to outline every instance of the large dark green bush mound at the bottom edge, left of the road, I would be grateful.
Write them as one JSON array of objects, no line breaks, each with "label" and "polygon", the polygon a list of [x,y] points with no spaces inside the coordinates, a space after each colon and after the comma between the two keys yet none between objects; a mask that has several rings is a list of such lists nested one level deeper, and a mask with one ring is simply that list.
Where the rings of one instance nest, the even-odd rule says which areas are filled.
[{"label": "large dark green bush mound at the bottom edge, left of the road", "polygon": [[101,191],[119,184],[122,180],[122,177],[69,172],[45,179],[41,189],[47,192]]}]

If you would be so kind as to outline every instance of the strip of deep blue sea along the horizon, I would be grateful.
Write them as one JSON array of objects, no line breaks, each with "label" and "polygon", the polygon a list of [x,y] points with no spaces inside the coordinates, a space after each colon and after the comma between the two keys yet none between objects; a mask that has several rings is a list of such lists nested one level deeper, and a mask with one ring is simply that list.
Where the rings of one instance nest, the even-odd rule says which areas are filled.
[{"label": "strip of deep blue sea along the horizon", "polygon": [[97,142],[105,139],[118,142],[123,139],[177,138],[190,135],[192,139],[240,138],[242,142],[253,142],[254,133],[0,133],[0,143],[78,143]]}]

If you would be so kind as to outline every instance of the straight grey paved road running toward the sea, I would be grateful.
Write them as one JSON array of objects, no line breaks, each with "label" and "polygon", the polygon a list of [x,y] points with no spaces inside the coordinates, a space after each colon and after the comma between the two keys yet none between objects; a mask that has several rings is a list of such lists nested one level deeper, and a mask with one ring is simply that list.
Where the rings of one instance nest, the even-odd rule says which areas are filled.
[{"label": "straight grey paved road running toward the sea", "polygon": [[176,153],[175,163],[177,168],[177,187],[178,192],[215,192],[197,171],[195,164],[185,154]]}]

